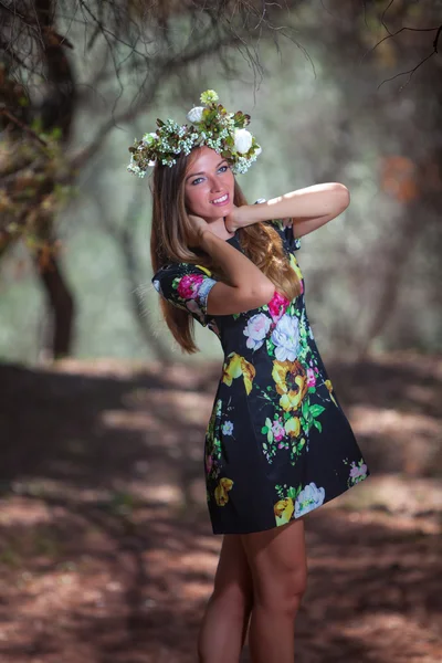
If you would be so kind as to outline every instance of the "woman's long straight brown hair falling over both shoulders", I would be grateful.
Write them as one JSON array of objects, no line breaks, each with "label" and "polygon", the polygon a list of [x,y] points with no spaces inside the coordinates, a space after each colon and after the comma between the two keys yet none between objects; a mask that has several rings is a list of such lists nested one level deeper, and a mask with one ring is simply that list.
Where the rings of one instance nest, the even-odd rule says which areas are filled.
[{"label": "woman's long straight brown hair falling over both shoulders", "polygon": [[[190,248],[187,236],[190,221],[185,203],[185,178],[189,156],[177,157],[171,168],[159,162],[154,168],[152,178],[152,220],[150,234],[150,259],[155,272],[167,263],[186,262],[202,265],[212,272],[218,281],[230,284],[229,275],[219,264],[199,248]],[[233,202],[238,207],[248,204],[236,180]],[[244,254],[272,281],[276,290],[290,301],[301,294],[302,287],[296,272],[291,267],[284,253],[281,236],[269,224],[253,223],[238,231],[238,238]],[[169,304],[160,297],[162,316],[173,338],[183,352],[198,351],[194,344],[194,319],[186,311]]]}]

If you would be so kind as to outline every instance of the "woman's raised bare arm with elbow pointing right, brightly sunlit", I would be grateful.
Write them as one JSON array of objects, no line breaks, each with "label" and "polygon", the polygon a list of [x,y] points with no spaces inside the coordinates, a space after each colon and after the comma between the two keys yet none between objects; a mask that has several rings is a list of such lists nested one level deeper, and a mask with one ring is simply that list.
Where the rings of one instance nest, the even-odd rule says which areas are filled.
[{"label": "woman's raised bare arm with elbow pointing right, brightly sunlit", "polygon": [[229,230],[272,219],[293,219],[293,233],[302,236],[320,228],[349,206],[350,194],[344,185],[328,182],[296,189],[266,202],[240,207],[232,214]]}]

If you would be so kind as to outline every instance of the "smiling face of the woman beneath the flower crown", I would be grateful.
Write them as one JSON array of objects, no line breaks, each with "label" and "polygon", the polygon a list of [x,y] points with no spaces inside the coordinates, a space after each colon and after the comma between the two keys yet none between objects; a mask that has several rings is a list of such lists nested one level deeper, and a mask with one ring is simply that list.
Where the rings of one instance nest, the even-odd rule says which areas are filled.
[{"label": "smiling face of the woman beneath the flower crown", "polygon": [[186,172],[185,194],[188,212],[207,222],[230,214],[234,177],[229,162],[206,145],[193,150]]}]

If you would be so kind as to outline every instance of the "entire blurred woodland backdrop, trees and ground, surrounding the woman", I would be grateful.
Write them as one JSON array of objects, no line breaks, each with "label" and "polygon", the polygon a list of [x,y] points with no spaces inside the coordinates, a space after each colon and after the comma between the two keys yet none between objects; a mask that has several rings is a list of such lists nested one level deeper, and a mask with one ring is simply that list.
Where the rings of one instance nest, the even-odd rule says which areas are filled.
[{"label": "entire blurred woodland backdrop, trees and ground, surrounding the woman", "polygon": [[194,661],[222,350],[197,326],[182,356],[161,322],[126,166],[214,88],[263,145],[251,202],[351,197],[298,260],[372,476],[308,520],[297,656],[440,663],[441,8],[0,0],[1,661]]}]

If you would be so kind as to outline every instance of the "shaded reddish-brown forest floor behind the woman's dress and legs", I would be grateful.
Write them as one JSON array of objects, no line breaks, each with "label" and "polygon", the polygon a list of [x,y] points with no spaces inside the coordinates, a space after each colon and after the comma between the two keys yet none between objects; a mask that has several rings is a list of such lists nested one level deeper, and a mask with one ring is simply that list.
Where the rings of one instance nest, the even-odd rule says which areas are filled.
[{"label": "shaded reddish-brown forest floor behind the woman's dress and legs", "polygon": [[[305,519],[296,662],[441,663],[442,358],[326,364],[372,475]],[[196,663],[219,376],[0,367],[0,663]]]}]

